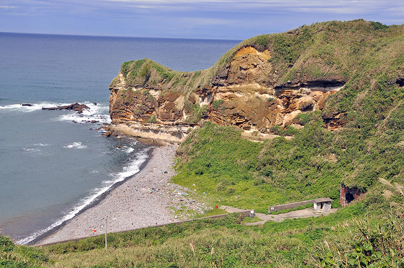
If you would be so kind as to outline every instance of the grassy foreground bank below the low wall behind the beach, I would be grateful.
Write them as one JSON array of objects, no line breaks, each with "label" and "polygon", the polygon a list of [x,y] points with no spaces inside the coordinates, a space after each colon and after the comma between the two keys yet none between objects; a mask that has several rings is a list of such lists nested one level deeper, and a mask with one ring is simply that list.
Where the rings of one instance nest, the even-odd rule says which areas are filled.
[{"label": "grassy foreground bank below the low wall behind the beach", "polygon": [[242,217],[233,213],[224,219],[109,234],[108,252],[103,236],[40,248],[17,246],[0,237],[0,266],[328,267],[327,263],[339,263],[330,267],[357,267],[336,252],[343,252],[348,259],[354,253],[366,257],[371,249],[363,242],[361,232],[368,232],[368,237],[379,235],[379,240],[385,235],[383,242],[390,243],[380,249],[380,243],[369,242],[376,256],[374,263],[403,265],[402,221],[389,213],[370,215],[367,205],[358,202],[327,217],[267,222],[262,226],[243,226]]}]

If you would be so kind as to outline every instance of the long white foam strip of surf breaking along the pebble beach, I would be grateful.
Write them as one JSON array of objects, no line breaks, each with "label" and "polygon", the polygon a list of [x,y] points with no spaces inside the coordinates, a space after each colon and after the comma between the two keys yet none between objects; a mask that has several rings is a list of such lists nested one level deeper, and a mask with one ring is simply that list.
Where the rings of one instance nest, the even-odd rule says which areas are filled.
[{"label": "long white foam strip of surf breaking along the pebble beach", "polygon": [[59,219],[58,221],[56,221],[54,224],[52,224],[48,228],[38,231],[38,232],[30,235],[27,238],[21,239],[21,240],[17,241],[17,243],[20,245],[27,244],[27,243],[33,241],[38,236],[43,235],[46,232],[51,231],[52,229],[60,226],[64,222],[66,222],[66,221],[72,219],[74,216],[76,216],[78,212],[80,212],[84,207],[89,205],[98,196],[100,196],[103,193],[105,193],[106,191],[108,191],[108,189],[110,189],[115,183],[123,181],[125,178],[138,173],[140,171],[141,164],[147,159],[147,152],[149,149],[150,148],[146,148],[146,149],[138,152],[136,155],[136,159],[133,160],[131,163],[129,163],[126,167],[124,167],[122,172],[120,172],[118,174],[111,174],[111,176],[114,178],[113,180],[104,181],[104,185],[105,185],[104,187],[93,189],[91,191],[90,195],[88,197],[80,200],[79,204],[76,207],[70,209],[66,216],[64,216],[61,219]]}]

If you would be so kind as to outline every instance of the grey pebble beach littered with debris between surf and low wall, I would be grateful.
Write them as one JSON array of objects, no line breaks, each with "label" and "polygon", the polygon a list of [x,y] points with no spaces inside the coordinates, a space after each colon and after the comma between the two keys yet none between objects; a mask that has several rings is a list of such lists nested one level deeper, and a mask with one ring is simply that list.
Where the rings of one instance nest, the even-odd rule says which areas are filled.
[{"label": "grey pebble beach littered with debris between surf and low wall", "polygon": [[108,232],[119,232],[187,220],[192,213],[204,212],[208,208],[192,199],[188,189],[169,183],[175,175],[176,148],[155,147],[138,173],[37,244],[105,233],[106,217]]}]

